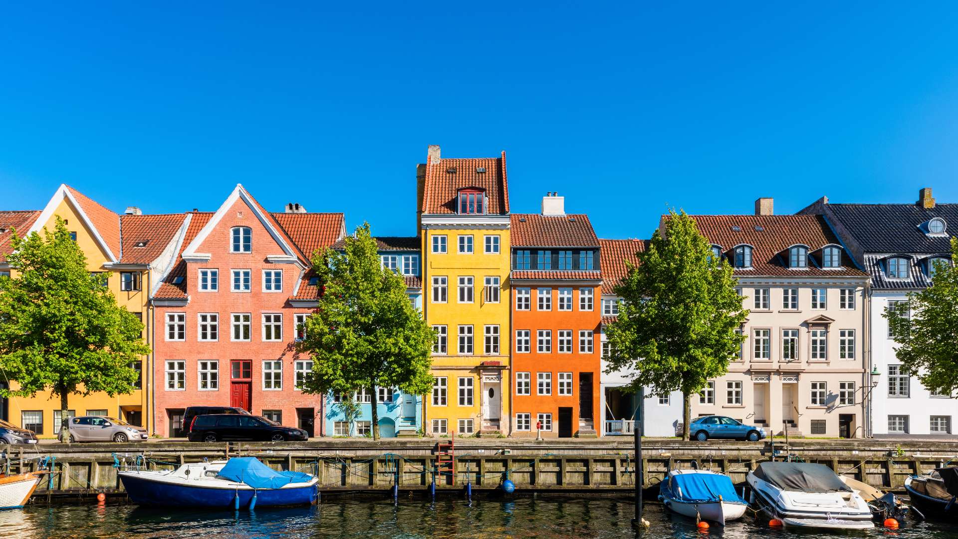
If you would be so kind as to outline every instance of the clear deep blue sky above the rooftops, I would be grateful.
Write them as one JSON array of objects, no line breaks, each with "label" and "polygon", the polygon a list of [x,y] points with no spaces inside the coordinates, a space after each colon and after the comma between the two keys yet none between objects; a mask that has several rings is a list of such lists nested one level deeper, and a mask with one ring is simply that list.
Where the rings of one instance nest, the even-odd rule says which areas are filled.
[{"label": "clear deep blue sky above the rooftops", "polygon": [[[344,211],[415,234],[415,165],[508,153],[600,237],[669,206],[958,201],[958,5],[13,3],[0,194]],[[349,5],[346,5],[349,4]]]}]

